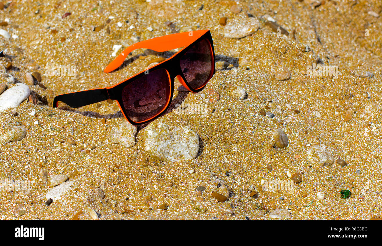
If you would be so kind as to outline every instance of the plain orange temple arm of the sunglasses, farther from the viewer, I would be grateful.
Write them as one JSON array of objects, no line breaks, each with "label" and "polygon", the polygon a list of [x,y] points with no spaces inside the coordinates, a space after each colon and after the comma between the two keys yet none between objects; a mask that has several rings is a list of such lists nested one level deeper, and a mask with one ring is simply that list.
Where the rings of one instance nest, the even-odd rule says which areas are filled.
[{"label": "plain orange temple arm of the sunglasses, farther from the viewer", "polygon": [[104,72],[109,73],[117,69],[125,61],[126,57],[133,50],[136,49],[151,49],[157,52],[164,52],[167,50],[176,49],[179,47],[187,46],[197,40],[200,36],[208,32],[209,30],[199,30],[190,32],[181,32],[170,34],[162,37],[155,37],[153,39],[143,40],[136,44],[130,45],[123,52],[121,52],[112,62],[110,62]]}]

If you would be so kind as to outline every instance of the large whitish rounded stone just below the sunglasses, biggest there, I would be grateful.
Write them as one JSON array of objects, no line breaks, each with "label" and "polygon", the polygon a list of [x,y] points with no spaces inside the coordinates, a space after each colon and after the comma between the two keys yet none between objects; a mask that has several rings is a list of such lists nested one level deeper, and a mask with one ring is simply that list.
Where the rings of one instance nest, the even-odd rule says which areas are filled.
[{"label": "large whitish rounded stone just below the sunglasses, biggest there", "polygon": [[199,136],[188,126],[169,126],[162,120],[151,122],[144,132],[144,149],[158,160],[192,160],[199,152]]}]

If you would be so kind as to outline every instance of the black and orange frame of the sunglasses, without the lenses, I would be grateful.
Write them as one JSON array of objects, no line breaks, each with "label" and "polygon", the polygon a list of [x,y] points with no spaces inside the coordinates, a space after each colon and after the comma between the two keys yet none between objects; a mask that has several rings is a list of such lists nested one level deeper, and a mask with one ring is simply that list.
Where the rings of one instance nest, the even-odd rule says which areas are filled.
[{"label": "black and orange frame of the sunglasses, without the lenses", "polygon": [[[181,71],[180,58],[187,52],[187,50],[190,47],[192,47],[194,43],[204,39],[208,40],[210,44],[211,72],[206,83],[204,83],[201,87],[197,89],[193,89],[191,86],[189,86],[183,72]],[[58,102],[64,102],[65,104],[69,105],[72,108],[78,108],[78,107],[83,107],[85,105],[94,104],[97,102],[102,102],[104,100],[112,99],[112,100],[117,100],[118,106],[120,107],[123,116],[126,118],[126,120],[128,120],[133,125],[141,125],[141,124],[148,123],[149,121],[155,120],[156,118],[163,115],[163,113],[166,112],[166,110],[170,106],[173,93],[174,93],[173,87],[174,87],[175,77],[188,91],[198,92],[198,91],[201,91],[206,86],[207,82],[214,75],[215,51],[214,51],[214,45],[212,42],[212,36],[209,30],[181,32],[176,34],[170,34],[167,36],[156,37],[153,39],[143,40],[136,44],[130,45],[125,50],[123,50],[123,52],[121,52],[112,62],[110,62],[104,70],[105,73],[109,73],[117,69],[119,66],[122,65],[123,61],[125,61],[126,57],[133,50],[136,50],[136,49],[151,49],[157,52],[164,52],[167,50],[177,49],[183,46],[184,48],[176,52],[172,57],[160,62],[157,65],[150,67],[147,70],[141,71],[140,73],[137,73],[129,77],[128,79],[125,79],[121,81],[120,83],[115,84],[114,86],[57,95],[53,100],[53,107],[58,107]],[[135,79],[141,76],[144,76],[149,71],[155,71],[159,69],[165,69],[167,71],[167,75],[168,75],[168,79],[170,83],[171,94],[167,99],[165,107],[157,115],[147,120],[138,121],[138,122],[131,120],[128,117],[128,114],[126,113],[125,108],[121,107],[121,105],[123,105],[123,101],[122,101],[123,88],[130,82],[134,81]]]}]

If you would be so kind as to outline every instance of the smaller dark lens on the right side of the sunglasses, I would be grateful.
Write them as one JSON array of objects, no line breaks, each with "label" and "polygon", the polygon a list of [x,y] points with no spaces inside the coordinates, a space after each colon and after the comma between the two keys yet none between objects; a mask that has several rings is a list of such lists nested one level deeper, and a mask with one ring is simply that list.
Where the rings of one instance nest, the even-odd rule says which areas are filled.
[{"label": "smaller dark lens on the right side of the sunglasses", "polygon": [[204,86],[212,75],[212,50],[207,39],[191,46],[180,58],[180,68],[193,89]]}]

